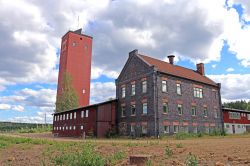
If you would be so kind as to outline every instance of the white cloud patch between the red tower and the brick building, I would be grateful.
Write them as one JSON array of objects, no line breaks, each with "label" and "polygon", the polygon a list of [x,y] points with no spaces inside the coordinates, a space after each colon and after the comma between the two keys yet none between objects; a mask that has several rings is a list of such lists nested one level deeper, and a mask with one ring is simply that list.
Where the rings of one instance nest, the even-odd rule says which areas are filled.
[{"label": "white cloud patch between the red tower and the brick building", "polygon": [[115,98],[115,83],[113,82],[94,82],[91,83],[91,104],[104,102],[110,98]]}]

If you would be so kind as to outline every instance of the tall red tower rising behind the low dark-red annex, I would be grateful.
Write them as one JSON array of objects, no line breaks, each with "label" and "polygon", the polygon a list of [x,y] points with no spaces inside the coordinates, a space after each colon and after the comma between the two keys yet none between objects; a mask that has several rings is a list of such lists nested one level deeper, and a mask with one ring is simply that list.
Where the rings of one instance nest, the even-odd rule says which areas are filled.
[{"label": "tall red tower rising behind the low dark-red annex", "polygon": [[72,77],[79,106],[87,106],[90,97],[92,37],[81,31],[68,31],[62,37],[57,97],[62,93],[63,75],[67,72]]}]

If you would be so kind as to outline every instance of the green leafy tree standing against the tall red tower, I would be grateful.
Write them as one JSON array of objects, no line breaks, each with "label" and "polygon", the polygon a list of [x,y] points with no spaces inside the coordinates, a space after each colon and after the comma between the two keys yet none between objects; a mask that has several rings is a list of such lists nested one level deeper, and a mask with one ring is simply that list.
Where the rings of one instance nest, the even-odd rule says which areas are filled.
[{"label": "green leafy tree standing against the tall red tower", "polygon": [[57,96],[55,112],[67,111],[77,108],[78,106],[78,97],[72,87],[71,75],[65,72],[63,75],[62,93]]}]

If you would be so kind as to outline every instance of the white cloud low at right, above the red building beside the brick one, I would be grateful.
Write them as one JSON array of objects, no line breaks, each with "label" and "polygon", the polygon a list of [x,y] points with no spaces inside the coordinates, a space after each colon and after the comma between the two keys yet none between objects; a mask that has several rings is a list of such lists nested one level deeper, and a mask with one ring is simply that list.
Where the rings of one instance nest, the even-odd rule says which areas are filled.
[{"label": "white cloud low at right, above the red building beside the brick one", "polygon": [[208,77],[221,83],[223,101],[250,99],[250,74],[208,75]]}]

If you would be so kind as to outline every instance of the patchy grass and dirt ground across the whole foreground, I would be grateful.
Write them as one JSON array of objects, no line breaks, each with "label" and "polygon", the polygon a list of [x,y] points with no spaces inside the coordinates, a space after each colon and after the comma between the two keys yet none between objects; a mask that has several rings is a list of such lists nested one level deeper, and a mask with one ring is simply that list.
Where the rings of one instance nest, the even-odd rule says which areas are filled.
[{"label": "patchy grass and dirt ground across the whole foreground", "polygon": [[50,133],[0,134],[0,165],[129,165],[129,156],[150,155],[145,165],[250,165],[250,135],[177,140],[70,139]]}]

